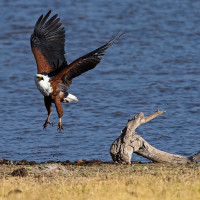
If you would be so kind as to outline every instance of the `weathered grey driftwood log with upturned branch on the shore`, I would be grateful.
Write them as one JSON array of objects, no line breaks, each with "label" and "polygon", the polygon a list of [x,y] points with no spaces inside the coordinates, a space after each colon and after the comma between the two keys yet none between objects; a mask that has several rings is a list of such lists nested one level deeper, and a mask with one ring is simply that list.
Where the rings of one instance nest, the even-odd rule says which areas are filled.
[{"label": "weathered grey driftwood log with upturned branch on the shore", "polygon": [[200,159],[200,152],[191,157],[185,157],[161,151],[151,146],[140,135],[136,134],[135,130],[138,126],[149,122],[164,112],[157,110],[157,112],[147,117],[140,112],[133,119],[128,120],[126,127],[121,131],[121,135],[111,145],[110,154],[113,161],[130,164],[133,153],[160,163],[186,164],[196,162]]}]

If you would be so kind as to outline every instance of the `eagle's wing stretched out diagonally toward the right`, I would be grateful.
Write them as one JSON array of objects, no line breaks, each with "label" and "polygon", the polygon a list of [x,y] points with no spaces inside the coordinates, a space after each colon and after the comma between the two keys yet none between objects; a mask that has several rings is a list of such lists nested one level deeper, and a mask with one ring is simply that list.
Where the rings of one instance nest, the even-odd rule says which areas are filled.
[{"label": "eagle's wing stretched out diagonally toward the right", "polygon": [[105,50],[108,49],[122,34],[117,34],[105,45],[73,61],[67,67],[60,70],[60,72],[53,77],[53,81],[62,79],[66,89],[69,88],[73,78],[95,68],[97,64],[100,63]]}]

